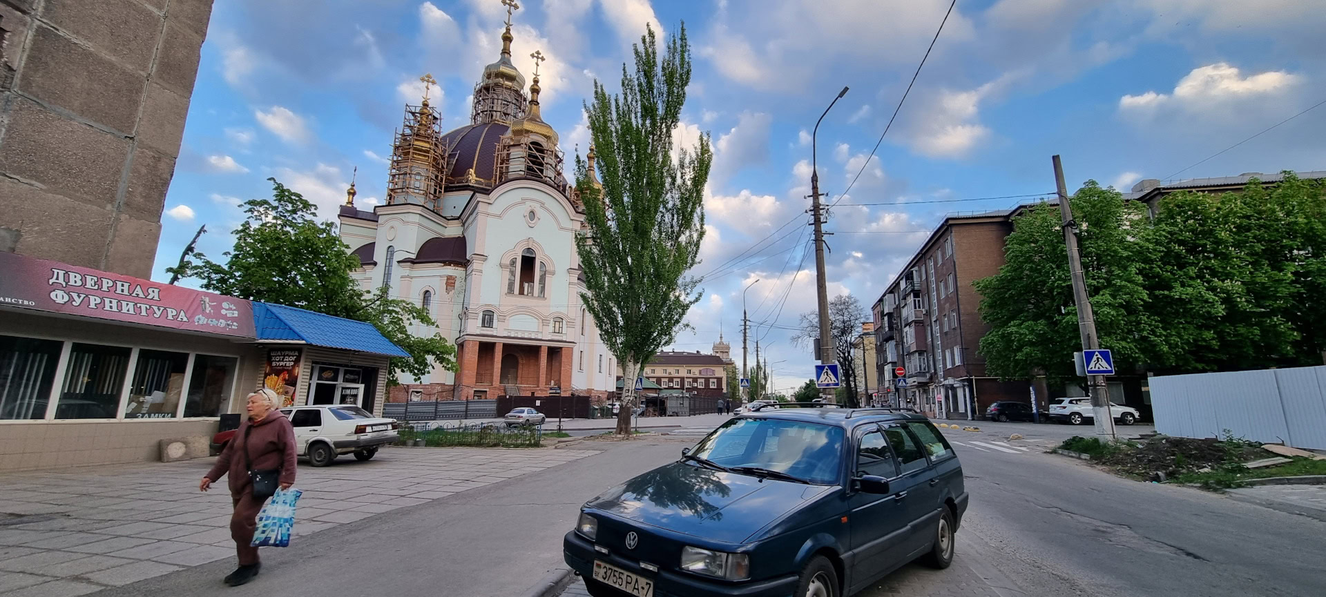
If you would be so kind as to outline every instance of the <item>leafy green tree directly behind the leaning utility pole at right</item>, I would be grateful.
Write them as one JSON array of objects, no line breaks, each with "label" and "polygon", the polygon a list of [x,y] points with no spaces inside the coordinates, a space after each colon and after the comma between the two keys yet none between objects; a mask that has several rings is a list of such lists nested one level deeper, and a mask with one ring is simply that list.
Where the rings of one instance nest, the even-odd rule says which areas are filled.
[{"label": "leafy green tree directly behind the leaning utility pole at right", "polygon": [[[1115,367],[1146,363],[1159,328],[1148,314],[1142,269],[1150,262],[1146,207],[1124,203],[1113,188],[1089,180],[1070,200],[1087,295],[1102,347]],[[976,281],[981,319],[991,331],[980,342],[987,371],[1004,380],[1045,375],[1054,385],[1083,384],[1073,367],[1082,349],[1077,307],[1058,207],[1033,205],[1013,221],[998,274]]]}]

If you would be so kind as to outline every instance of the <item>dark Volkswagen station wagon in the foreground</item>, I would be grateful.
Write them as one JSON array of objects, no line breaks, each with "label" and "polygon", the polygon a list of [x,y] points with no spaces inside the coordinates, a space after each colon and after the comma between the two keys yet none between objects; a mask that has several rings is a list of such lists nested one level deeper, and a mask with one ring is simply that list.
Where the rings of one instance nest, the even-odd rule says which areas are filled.
[{"label": "dark Volkswagen station wagon in the foreground", "polygon": [[839,597],[916,559],[953,561],[968,496],[935,425],[778,406],[589,500],[562,549],[590,594]]}]

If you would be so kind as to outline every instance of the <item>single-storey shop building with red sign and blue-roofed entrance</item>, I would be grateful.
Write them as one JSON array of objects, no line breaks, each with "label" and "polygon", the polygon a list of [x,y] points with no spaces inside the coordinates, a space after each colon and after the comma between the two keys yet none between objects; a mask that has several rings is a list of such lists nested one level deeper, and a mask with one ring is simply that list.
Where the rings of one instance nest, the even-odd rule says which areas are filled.
[{"label": "single-storey shop building with red sign and blue-roofed entrance", "polygon": [[363,322],[0,253],[0,471],[156,461],[260,387],[318,404],[322,363],[381,412],[403,355]]}]

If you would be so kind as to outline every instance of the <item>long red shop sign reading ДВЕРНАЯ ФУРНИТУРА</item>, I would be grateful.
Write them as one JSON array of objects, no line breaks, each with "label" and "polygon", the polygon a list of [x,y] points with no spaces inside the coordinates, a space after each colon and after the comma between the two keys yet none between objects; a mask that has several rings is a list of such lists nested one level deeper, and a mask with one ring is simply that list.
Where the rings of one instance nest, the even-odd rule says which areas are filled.
[{"label": "long red shop sign reading \u0414\u0412\u0415\u0420\u041d\u0410\u042f \u0424\u0423\u0420\u041d\u0418\u0422\u0423\u0420\u0410", "polygon": [[248,300],[0,253],[0,306],[253,338]]}]

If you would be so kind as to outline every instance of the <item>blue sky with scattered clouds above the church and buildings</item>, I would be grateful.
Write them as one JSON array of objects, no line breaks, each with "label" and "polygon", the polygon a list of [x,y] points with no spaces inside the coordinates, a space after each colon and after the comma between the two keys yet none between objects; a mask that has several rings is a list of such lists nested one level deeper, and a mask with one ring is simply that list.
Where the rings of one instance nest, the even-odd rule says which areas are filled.
[{"label": "blue sky with scattered clouds above the church and buildings", "polygon": [[[948,1],[529,0],[513,19],[513,54],[526,78],[529,54],[548,57],[544,118],[569,156],[587,146],[581,105],[593,81],[617,87],[646,23],[667,33],[686,23],[695,68],[676,138],[713,136],[696,269],[713,275],[688,316],[695,332],[675,348],[707,351],[721,322],[740,360],[747,283],[761,281],[747,294],[753,322],[794,326],[814,308],[814,257],[802,259],[798,214],[809,207],[809,131],[842,86],[851,90],[818,134],[821,189],[841,201],[826,228],[830,294],[850,293],[869,310],[945,212],[1017,200],[934,201],[1053,191],[1052,154],[1063,156],[1070,188],[1326,169],[1323,106],[1179,172],[1326,99],[1326,12],[1313,4],[959,0],[869,161]],[[504,17],[499,0],[217,1],[155,278],[200,224],[210,230],[202,252],[229,249],[236,205],[269,195],[269,176],[330,216],[358,167],[361,207],[379,200],[391,134],[404,102],[420,97],[418,78],[440,82],[432,97],[444,128],[465,124]],[[794,218],[769,238],[777,242],[719,269]],[[786,330],[758,335],[777,387],[810,376],[809,349]]]}]

